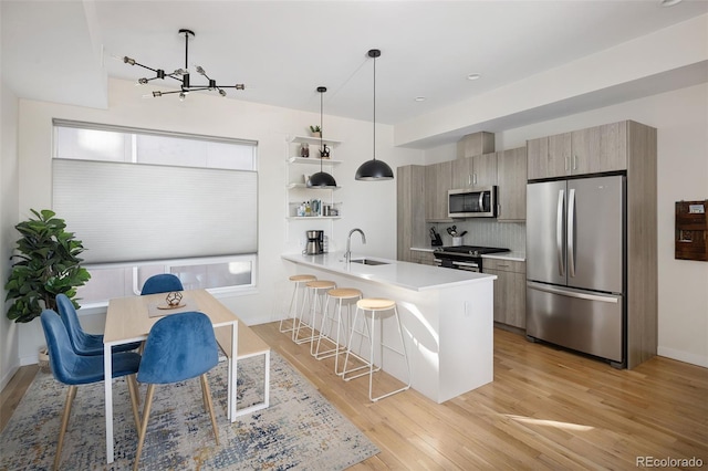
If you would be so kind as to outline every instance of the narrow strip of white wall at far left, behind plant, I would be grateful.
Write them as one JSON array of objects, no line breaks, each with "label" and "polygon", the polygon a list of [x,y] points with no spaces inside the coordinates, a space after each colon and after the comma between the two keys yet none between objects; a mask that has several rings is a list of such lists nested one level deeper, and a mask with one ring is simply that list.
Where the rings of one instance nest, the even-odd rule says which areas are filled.
[{"label": "narrow strip of white wall at far left, behind plant", "polygon": [[[1,286],[10,275],[10,255],[18,239],[14,224],[18,221],[18,98],[0,84],[0,276]],[[2,301],[7,292],[2,290]],[[8,303],[3,303],[6,307]],[[0,316],[0,389],[19,367],[17,325]]]}]

